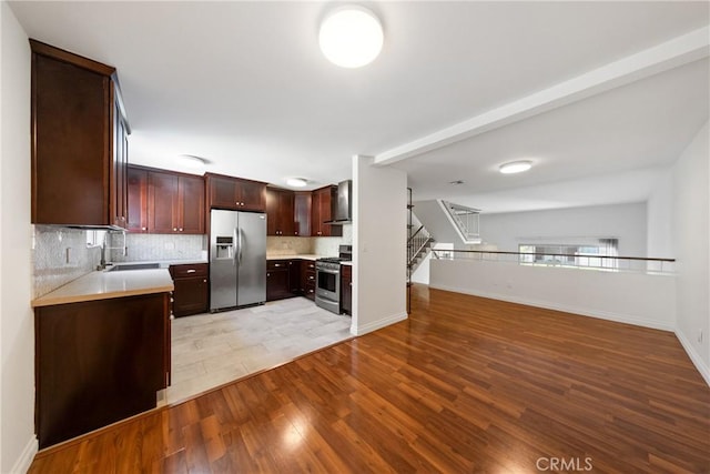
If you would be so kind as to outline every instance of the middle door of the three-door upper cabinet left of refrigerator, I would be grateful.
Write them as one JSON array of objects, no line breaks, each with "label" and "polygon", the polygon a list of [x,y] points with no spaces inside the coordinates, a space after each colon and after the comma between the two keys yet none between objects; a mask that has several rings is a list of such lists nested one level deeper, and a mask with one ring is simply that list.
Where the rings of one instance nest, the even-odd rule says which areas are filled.
[{"label": "middle door of the three-door upper cabinet left of refrigerator", "polygon": [[148,174],[148,228],[150,232],[178,232],[178,175],[151,171]]}]

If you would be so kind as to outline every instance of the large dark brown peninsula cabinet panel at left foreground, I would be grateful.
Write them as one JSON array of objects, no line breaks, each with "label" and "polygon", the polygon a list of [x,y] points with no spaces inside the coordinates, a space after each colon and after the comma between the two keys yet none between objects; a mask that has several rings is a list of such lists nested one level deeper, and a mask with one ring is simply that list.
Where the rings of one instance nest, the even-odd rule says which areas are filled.
[{"label": "large dark brown peninsula cabinet panel at left foreground", "polygon": [[170,293],[34,309],[40,448],[155,407],[170,379]]}]

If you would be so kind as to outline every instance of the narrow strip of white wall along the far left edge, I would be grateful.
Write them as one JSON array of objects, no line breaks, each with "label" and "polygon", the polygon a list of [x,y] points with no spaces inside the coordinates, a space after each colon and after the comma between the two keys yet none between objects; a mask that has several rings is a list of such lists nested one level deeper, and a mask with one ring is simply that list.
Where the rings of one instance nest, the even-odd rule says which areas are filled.
[{"label": "narrow strip of white wall along the far left edge", "polygon": [[1,3],[0,72],[0,471],[22,472],[34,437],[34,329],[30,225],[30,46]]}]

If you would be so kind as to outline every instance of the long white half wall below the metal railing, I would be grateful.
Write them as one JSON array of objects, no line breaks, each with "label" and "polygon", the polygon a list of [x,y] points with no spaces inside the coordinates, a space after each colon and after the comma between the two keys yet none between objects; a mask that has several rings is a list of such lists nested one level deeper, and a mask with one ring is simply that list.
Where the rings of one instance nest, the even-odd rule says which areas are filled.
[{"label": "long white half wall below the metal railing", "polygon": [[632,272],[432,260],[429,286],[646,327],[676,327],[676,279]]}]

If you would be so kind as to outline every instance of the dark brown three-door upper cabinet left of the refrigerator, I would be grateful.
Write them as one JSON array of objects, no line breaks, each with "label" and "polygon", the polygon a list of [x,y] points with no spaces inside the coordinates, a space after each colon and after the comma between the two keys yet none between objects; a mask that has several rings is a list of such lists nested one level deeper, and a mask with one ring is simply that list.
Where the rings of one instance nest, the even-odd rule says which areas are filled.
[{"label": "dark brown three-door upper cabinet left of the refrigerator", "polygon": [[155,234],[204,233],[202,177],[129,167],[129,231]]}]

